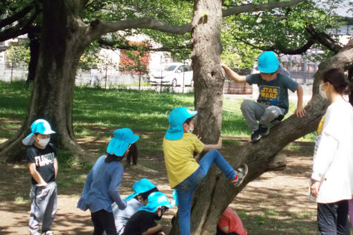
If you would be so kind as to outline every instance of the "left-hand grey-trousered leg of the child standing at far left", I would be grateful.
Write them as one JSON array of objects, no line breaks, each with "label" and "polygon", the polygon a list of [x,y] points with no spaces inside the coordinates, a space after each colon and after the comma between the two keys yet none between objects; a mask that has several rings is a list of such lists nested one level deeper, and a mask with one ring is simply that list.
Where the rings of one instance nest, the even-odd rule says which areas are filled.
[{"label": "left-hand grey-trousered leg of the child standing at far left", "polygon": [[30,234],[39,232],[39,223],[43,220],[43,215],[46,209],[45,203],[45,187],[37,187],[31,185],[30,187],[30,220],[29,230]]}]

